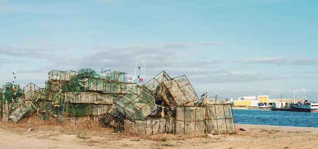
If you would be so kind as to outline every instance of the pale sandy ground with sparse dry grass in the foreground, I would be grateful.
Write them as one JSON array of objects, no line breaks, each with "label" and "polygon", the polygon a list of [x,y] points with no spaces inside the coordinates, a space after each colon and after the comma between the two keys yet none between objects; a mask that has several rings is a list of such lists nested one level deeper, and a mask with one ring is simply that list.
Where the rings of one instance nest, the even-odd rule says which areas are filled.
[{"label": "pale sandy ground with sparse dry grass in the foreground", "polygon": [[[0,149],[318,149],[318,128],[237,124],[236,134],[152,136],[0,123]],[[246,131],[240,131],[243,128]]]}]

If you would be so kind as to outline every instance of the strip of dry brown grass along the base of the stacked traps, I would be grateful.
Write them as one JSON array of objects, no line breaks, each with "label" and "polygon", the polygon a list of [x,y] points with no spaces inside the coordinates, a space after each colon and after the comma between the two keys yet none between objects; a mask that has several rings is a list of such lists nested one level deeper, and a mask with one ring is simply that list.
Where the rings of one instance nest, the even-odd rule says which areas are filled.
[{"label": "strip of dry brown grass along the base of the stacked traps", "polygon": [[[70,118],[64,118],[63,123],[57,123],[54,118],[49,121],[42,121],[33,116],[23,119],[19,123],[2,123],[0,122],[0,127],[11,127],[11,128],[40,128],[40,130],[53,130],[58,131],[63,134],[75,135],[79,139],[90,139],[91,136],[108,136],[107,141],[111,140],[121,140],[127,139],[131,141],[141,141],[141,140],[151,140],[158,143],[168,143],[171,141],[181,141],[191,138],[207,138],[206,135],[174,135],[174,134],[155,134],[155,135],[144,135],[140,131],[132,129],[132,125],[124,124],[122,125],[112,125],[110,127],[103,127],[101,125],[94,124],[94,121],[80,122],[77,125],[71,125]],[[115,127],[122,127],[123,131],[116,133]],[[16,129],[20,131],[20,129]],[[25,131],[25,129],[21,129]]]}]

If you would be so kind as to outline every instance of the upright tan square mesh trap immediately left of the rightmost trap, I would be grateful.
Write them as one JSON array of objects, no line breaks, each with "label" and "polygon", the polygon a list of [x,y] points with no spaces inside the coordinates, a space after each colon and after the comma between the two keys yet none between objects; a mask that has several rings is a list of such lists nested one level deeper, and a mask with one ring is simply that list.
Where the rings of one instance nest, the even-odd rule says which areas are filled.
[{"label": "upright tan square mesh trap immediately left of the rightmost trap", "polygon": [[176,134],[204,134],[205,108],[178,106],[176,110]]}]

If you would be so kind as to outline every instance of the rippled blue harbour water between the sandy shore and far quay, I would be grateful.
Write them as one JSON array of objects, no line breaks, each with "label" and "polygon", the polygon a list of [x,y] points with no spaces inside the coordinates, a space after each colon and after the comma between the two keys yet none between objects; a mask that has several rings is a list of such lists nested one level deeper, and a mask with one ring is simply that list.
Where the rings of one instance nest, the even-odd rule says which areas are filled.
[{"label": "rippled blue harbour water between the sandy shore and far quay", "polygon": [[318,112],[233,110],[237,124],[318,127]]}]

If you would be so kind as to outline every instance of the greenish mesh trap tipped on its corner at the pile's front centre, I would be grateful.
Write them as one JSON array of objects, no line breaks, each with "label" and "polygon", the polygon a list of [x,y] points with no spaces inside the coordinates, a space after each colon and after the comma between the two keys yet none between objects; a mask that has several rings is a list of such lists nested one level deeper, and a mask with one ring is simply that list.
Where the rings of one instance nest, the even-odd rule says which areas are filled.
[{"label": "greenish mesh trap tipped on its corner at the pile's front centre", "polygon": [[152,111],[157,110],[154,96],[147,88],[134,87],[123,98],[115,102],[117,111],[131,121],[144,120]]}]

